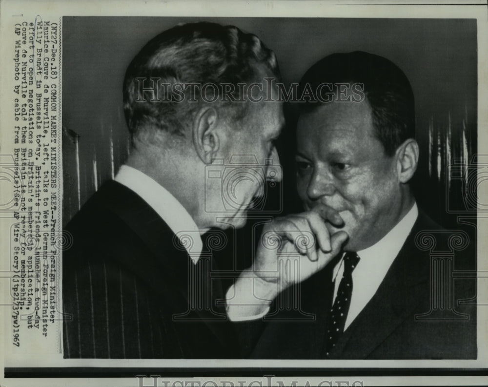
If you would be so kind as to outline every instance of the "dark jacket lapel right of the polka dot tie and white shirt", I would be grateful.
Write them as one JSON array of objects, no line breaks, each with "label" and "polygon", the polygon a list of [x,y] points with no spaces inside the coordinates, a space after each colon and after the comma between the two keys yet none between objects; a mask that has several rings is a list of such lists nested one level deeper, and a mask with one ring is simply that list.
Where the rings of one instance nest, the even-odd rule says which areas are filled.
[{"label": "dark jacket lapel right of the polka dot tie and white shirt", "polygon": [[417,232],[424,229],[423,224],[423,216],[419,215],[380,287],[341,336],[331,358],[367,358],[405,319],[411,317],[425,296],[424,284],[429,275],[428,256],[419,251],[414,242]]}]

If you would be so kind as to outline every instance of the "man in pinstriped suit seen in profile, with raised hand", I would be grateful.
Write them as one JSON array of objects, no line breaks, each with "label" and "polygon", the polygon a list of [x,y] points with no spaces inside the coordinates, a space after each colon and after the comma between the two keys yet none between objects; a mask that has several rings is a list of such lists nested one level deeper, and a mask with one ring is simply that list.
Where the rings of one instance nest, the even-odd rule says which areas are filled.
[{"label": "man in pinstriped suit seen in profile, with raised hand", "polygon": [[[280,77],[272,51],[214,23],[167,30],[132,60],[123,86],[130,155],[66,227],[74,243],[63,253],[65,357],[241,356],[229,319],[260,317],[265,297],[255,296],[273,298],[284,282],[251,268],[224,298],[211,258],[219,229],[242,227],[266,181],[281,180],[284,118],[270,77]],[[314,226],[300,230],[319,232],[328,249],[322,265],[346,238],[329,238],[322,219],[334,216],[325,206],[302,214]],[[273,224],[286,239],[289,227]],[[294,237],[284,242],[293,251]],[[302,252],[310,275],[319,265]],[[276,251],[255,263],[257,273],[273,271]]]}]

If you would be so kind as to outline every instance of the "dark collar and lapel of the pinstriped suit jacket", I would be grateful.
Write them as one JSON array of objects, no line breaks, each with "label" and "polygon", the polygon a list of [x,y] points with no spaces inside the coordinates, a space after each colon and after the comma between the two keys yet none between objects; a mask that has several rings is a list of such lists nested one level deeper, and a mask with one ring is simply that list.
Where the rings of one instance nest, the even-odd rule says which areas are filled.
[{"label": "dark collar and lapel of the pinstriped suit jacket", "polygon": [[[139,274],[152,290],[163,296],[176,310],[182,310],[182,305],[189,308],[195,303],[195,300],[190,299],[189,281],[199,281],[190,275],[195,265],[183,246],[178,244],[174,232],[139,195],[122,184],[109,181],[99,192],[102,206],[119,216],[152,253],[152,257],[127,257],[120,254],[124,266]],[[144,259],[146,261],[142,261]],[[155,267],[160,270],[154,270]],[[166,275],[162,276],[162,273]],[[214,294],[221,295],[221,288],[215,289]],[[223,326],[227,324],[222,324],[225,314],[223,319],[215,321],[216,316],[211,311],[196,308],[192,312],[198,314],[199,320],[207,325],[222,344],[229,344],[230,332]]]}]

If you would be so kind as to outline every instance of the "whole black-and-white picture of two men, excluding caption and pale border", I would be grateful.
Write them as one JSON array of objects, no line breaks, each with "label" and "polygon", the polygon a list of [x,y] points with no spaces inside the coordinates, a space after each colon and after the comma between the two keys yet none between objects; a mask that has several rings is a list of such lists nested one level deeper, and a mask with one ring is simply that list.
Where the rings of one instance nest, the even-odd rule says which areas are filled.
[{"label": "whole black-and-white picture of two men, excluding caption and pale border", "polygon": [[62,28],[64,358],[478,358],[476,19]]}]

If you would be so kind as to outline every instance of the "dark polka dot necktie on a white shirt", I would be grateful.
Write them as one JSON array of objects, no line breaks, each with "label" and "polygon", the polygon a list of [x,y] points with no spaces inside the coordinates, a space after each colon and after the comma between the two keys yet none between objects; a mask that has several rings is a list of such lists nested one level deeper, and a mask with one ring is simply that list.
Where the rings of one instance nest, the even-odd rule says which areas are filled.
[{"label": "dark polka dot necktie on a white shirt", "polygon": [[352,271],[358,264],[359,259],[358,254],[355,252],[346,252],[344,255],[344,274],[337,289],[334,305],[330,310],[331,315],[325,344],[326,356],[329,355],[330,351],[335,347],[337,340],[339,340],[339,337],[344,332],[347,312],[351,303]]}]

